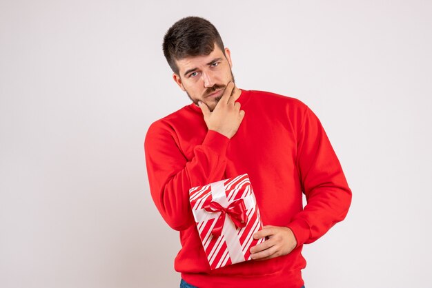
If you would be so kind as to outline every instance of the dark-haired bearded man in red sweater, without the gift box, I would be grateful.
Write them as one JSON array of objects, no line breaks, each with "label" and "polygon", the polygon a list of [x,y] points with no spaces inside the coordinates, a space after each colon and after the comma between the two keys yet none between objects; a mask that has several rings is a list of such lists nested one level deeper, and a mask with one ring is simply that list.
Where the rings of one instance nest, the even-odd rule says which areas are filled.
[{"label": "dark-haired bearded man in red sweater, without the gift box", "polygon": [[[163,47],[193,103],[153,123],[144,148],[155,205],[180,232],[181,287],[302,287],[303,245],[343,220],[351,203],[320,121],[297,99],[235,87],[230,50],[205,19],[177,21]],[[251,248],[253,260],[210,270],[188,191],[245,173],[264,223],[253,237],[266,240]]]}]

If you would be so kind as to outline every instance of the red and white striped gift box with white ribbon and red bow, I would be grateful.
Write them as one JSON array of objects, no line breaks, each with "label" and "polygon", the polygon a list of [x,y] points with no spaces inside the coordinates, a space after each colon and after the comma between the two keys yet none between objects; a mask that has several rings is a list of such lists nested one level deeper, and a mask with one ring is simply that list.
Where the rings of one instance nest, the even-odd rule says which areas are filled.
[{"label": "red and white striped gift box with white ribbon and red bow", "polygon": [[248,174],[189,190],[190,207],[210,269],[251,260],[262,220]]}]

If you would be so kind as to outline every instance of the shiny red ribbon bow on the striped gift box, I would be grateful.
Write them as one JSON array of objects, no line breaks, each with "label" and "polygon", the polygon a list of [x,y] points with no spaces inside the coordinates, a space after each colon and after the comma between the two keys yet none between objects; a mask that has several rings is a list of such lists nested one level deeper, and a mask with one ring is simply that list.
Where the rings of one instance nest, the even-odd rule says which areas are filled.
[{"label": "shiny red ribbon bow on the striped gift box", "polygon": [[236,227],[243,228],[248,222],[248,216],[246,215],[246,205],[244,205],[243,199],[233,201],[226,208],[215,201],[211,201],[204,206],[204,209],[206,209],[207,212],[221,212],[211,232],[213,236],[218,237],[222,234],[222,228],[224,227],[226,214],[230,216],[230,219],[233,220],[233,223]]}]

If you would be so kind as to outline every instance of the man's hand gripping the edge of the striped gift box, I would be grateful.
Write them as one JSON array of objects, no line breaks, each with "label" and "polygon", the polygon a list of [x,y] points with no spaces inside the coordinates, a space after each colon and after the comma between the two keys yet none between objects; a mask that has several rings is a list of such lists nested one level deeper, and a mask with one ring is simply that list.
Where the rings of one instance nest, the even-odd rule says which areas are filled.
[{"label": "man's hand gripping the edge of the striped gift box", "polygon": [[295,240],[293,232],[288,227],[267,225],[253,234],[255,239],[266,236],[268,236],[267,240],[251,248],[253,260],[267,260],[284,256],[297,246],[297,240]]}]

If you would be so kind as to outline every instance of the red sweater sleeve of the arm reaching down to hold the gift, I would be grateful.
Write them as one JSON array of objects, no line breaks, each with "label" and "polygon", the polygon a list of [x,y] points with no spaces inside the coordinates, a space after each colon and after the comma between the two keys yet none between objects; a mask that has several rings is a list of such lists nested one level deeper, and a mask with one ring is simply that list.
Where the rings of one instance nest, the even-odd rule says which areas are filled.
[{"label": "red sweater sleeve of the arm reaching down to hold the gift", "polygon": [[297,167],[307,204],[288,227],[298,247],[343,220],[351,205],[351,189],[340,162],[319,119],[308,108],[297,135]]}]

